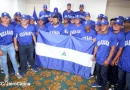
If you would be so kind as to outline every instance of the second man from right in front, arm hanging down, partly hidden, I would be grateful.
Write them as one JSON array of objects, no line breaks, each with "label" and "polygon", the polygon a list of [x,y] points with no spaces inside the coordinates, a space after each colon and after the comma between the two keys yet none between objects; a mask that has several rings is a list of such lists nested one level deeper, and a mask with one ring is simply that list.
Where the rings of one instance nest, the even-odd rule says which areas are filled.
[{"label": "second man from right in front, arm hanging down, partly hidden", "polygon": [[114,34],[116,35],[116,38],[117,38],[117,47],[115,49],[115,52],[111,61],[111,66],[110,66],[111,72],[109,72],[111,76],[111,79],[110,79],[111,89],[116,88],[117,79],[118,79],[117,65],[118,65],[119,58],[122,54],[123,48],[124,48],[124,44],[125,44],[125,34],[124,32],[121,31],[121,27],[122,27],[122,20],[117,19],[113,25]]}]

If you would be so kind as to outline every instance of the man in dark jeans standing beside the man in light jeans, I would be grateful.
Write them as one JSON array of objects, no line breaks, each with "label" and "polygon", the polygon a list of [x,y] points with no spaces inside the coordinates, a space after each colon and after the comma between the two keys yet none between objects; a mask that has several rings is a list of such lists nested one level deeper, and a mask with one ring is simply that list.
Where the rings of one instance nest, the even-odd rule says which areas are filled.
[{"label": "man in dark jeans standing beside the man in light jeans", "polygon": [[34,62],[34,44],[36,45],[35,29],[32,25],[28,24],[28,16],[21,16],[21,24],[15,27],[14,44],[15,50],[19,51],[21,75],[26,73],[27,61],[31,65],[33,71],[37,72]]}]

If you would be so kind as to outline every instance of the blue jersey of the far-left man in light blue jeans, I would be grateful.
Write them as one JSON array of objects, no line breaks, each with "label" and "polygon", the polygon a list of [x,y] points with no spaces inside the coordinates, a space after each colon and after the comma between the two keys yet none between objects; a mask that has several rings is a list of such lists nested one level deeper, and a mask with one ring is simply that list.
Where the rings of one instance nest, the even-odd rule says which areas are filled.
[{"label": "blue jersey of the far-left man in light blue jeans", "polygon": [[0,45],[13,43],[14,26],[9,24],[7,27],[0,24]]}]

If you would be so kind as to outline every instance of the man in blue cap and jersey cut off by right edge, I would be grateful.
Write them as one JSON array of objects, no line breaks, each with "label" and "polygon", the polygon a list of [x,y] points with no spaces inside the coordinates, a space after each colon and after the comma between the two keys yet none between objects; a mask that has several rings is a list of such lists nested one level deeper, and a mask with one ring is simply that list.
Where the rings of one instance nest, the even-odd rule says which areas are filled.
[{"label": "man in blue cap and jersey cut off by right edge", "polygon": [[[118,86],[117,90],[130,90],[130,17],[124,21],[125,45],[118,61]],[[125,86],[126,83],[126,86]]]}]

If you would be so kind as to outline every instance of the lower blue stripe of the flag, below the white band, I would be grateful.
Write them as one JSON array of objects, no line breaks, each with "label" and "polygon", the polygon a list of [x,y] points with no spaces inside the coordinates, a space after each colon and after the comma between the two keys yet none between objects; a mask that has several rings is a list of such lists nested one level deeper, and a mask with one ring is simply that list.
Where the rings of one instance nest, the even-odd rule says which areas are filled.
[{"label": "lower blue stripe of the flag, below the white band", "polygon": [[90,67],[82,66],[66,60],[54,59],[39,55],[36,55],[36,59],[36,64],[40,65],[41,67],[70,72],[72,74],[80,75],[86,79],[89,78],[89,74],[91,72]]}]

